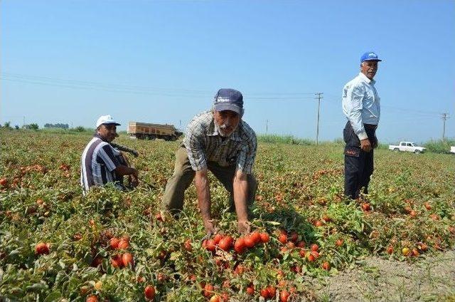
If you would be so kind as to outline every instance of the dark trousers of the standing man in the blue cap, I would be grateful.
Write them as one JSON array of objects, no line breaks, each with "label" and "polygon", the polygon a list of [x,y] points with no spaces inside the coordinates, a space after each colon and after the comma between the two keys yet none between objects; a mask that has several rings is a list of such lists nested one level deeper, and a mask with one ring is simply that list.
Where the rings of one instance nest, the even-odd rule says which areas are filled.
[{"label": "dark trousers of the standing man in the blue cap", "polygon": [[[378,139],[375,131],[376,125],[365,124],[368,140],[373,148],[378,147]],[[360,140],[355,135],[350,122],[343,129],[343,139],[346,142],[344,148],[344,194],[350,199],[358,198],[360,189],[368,194],[370,176],[373,174],[373,150],[364,152],[360,148]]]}]

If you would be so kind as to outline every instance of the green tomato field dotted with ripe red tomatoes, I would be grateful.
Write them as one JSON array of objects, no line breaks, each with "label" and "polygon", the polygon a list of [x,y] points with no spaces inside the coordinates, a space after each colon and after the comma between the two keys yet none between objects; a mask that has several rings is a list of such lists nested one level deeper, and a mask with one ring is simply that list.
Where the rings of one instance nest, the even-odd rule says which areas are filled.
[{"label": "green tomato field dotted with ripe red tomatoes", "polygon": [[[0,300],[317,301],[309,278],[364,256],[412,264],[453,249],[455,157],[375,151],[370,194],[343,197],[343,146],[259,143],[253,233],[240,239],[210,176],[221,236],[205,235],[193,184],[160,212],[179,142],[115,142],[143,180],[80,189],[90,133],[0,130]],[[261,298],[262,297],[262,298]]]}]

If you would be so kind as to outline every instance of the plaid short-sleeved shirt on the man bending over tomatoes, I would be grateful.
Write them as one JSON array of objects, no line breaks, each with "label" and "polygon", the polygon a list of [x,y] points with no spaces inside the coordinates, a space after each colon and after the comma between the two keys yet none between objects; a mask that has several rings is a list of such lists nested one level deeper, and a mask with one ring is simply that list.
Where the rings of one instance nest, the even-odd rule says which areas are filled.
[{"label": "plaid short-sleeved shirt on the man bending over tomatoes", "polygon": [[256,134],[243,120],[232,135],[223,140],[215,127],[213,111],[200,113],[188,124],[183,145],[195,171],[207,168],[207,162],[216,162],[222,167],[236,165],[237,170],[252,173],[257,150]]}]

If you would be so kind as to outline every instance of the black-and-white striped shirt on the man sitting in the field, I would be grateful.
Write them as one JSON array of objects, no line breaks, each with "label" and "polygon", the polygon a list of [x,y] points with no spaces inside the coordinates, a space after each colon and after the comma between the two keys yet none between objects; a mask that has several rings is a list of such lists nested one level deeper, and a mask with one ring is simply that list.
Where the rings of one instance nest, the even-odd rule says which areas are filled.
[{"label": "black-and-white striped shirt on the man sitting in the field", "polygon": [[123,182],[117,177],[115,168],[125,165],[122,153],[95,135],[82,152],[80,165],[80,185],[84,194],[92,186],[102,186],[108,182]]}]

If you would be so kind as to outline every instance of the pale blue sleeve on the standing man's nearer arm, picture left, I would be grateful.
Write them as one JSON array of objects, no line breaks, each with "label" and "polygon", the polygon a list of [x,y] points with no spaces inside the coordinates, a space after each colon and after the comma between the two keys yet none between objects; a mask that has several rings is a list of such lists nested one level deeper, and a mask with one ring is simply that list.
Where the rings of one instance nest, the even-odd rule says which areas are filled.
[{"label": "pale blue sleeve on the standing man's nearer arm, picture left", "polygon": [[353,130],[359,140],[368,138],[362,121],[362,100],[364,95],[365,88],[363,88],[363,85],[350,85],[343,89],[343,113],[353,126]]}]

